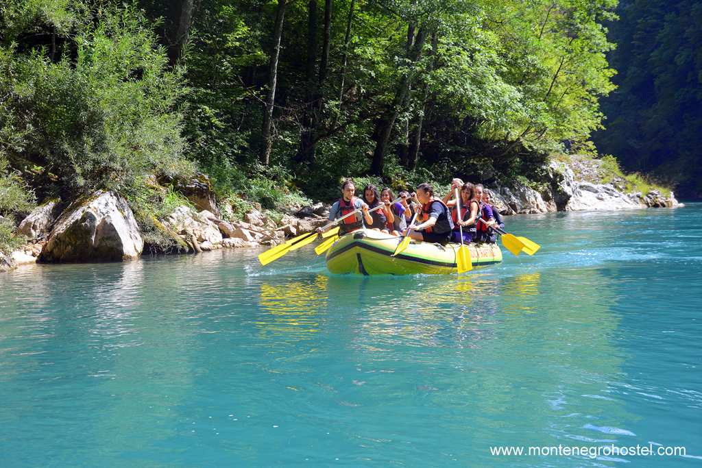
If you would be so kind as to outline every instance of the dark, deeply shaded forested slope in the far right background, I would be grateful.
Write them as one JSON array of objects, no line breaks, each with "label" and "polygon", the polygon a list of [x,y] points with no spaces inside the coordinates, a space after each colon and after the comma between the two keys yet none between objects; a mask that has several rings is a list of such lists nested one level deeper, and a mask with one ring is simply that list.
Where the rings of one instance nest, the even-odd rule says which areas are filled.
[{"label": "dark, deeply shaded forested slope in the far right background", "polygon": [[618,89],[597,148],[702,198],[702,1],[622,0],[609,25]]}]

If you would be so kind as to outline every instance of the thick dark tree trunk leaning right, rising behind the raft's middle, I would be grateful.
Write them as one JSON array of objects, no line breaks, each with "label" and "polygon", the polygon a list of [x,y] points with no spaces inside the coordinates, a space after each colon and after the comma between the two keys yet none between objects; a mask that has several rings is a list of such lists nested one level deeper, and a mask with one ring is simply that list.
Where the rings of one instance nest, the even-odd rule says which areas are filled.
[{"label": "thick dark tree trunk leaning right, rising behind the raft's middle", "polygon": [[[421,58],[427,33],[428,31],[425,27],[419,29],[408,57],[412,63],[416,63]],[[402,76],[397,86],[397,91],[395,91],[395,99],[392,100],[392,105],[388,108],[385,116],[380,117],[380,119],[376,121],[376,128],[375,131],[373,131],[373,135],[376,139],[376,148],[373,150],[373,160],[371,161],[370,171],[373,175],[383,175],[385,147],[388,146],[388,142],[390,141],[390,133],[392,133],[392,126],[395,125],[395,119],[397,119],[397,115],[409,95],[412,79],[413,73],[411,71]]]}]

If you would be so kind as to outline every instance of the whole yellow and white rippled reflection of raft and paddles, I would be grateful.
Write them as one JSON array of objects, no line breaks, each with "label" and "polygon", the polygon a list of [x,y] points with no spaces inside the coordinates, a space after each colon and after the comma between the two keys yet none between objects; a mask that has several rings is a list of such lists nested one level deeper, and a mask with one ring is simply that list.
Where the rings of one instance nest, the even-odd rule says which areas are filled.
[{"label": "whole yellow and white rippled reflection of raft and paddles", "polygon": [[492,333],[489,325],[503,320],[500,312],[535,312],[536,297],[524,299],[538,294],[540,279],[538,273],[510,279],[494,274],[454,276],[450,281],[438,276],[382,281],[319,274],[283,284],[263,283],[256,326],[262,335],[303,340],[324,333],[321,328],[331,313],[333,322],[349,320],[346,331],[363,347],[377,346],[378,339],[430,347],[474,341]]}]

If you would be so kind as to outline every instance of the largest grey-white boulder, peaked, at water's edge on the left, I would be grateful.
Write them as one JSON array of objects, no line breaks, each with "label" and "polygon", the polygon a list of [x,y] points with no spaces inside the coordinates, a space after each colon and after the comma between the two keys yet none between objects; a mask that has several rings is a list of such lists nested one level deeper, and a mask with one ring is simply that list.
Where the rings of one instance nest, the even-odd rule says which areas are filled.
[{"label": "largest grey-white boulder, peaked, at water's edge on the left", "polygon": [[64,210],[39,260],[133,260],[143,248],[144,241],[127,201],[114,192],[99,190]]}]

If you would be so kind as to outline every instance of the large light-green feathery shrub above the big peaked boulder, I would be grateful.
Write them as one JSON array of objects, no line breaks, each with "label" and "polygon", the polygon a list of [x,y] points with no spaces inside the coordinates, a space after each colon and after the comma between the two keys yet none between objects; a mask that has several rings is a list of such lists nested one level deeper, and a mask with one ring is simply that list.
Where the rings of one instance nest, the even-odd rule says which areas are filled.
[{"label": "large light-green feathery shrub above the big peaked boulder", "polygon": [[[0,140],[0,151],[42,198],[95,189],[137,196],[146,173],[194,172],[180,135],[183,71],[168,67],[134,6],[91,6],[67,2],[71,21],[62,29],[52,27],[56,12],[47,21],[16,10],[25,14],[15,22],[24,28],[6,38],[17,42],[0,46],[0,94],[15,135]],[[58,32],[58,51],[24,44],[29,30]]]}]

